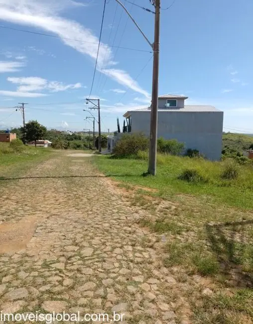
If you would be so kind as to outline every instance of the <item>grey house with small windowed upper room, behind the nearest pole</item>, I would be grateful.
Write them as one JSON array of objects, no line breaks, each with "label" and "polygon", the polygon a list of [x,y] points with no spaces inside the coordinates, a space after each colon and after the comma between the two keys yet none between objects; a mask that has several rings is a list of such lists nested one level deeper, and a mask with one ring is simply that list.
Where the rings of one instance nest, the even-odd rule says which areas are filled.
[{"label": "grey house with small windowed upper room, behind the nearest pole", "polygon": [[[176,139],[185,144],[185,150],[197,149],[207,159],[219,161],[222,152],[223,112],[213,106],[185,105],[186,96],[158,97],[157,136]],[[127,111],[124,117],[131,133],[150,134],[151,108]],[[110,141],[113,150],[119,136]]]}]

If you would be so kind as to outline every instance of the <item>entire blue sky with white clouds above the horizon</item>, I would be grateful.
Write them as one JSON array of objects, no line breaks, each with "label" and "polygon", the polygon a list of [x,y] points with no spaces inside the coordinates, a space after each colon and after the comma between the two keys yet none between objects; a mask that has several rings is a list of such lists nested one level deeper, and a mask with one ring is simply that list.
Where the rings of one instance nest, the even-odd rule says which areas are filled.
[{"label": "entire blue sky with white clouds above the horizon", "polygon": [[[132,1],[152,9],[148,0]],[[102,130],[114,131],[117,117],[150,102],[152,54],[122,8],[108,2],[91,97],[101,98]],[[162,8],[171,3],[161,0]],[[82,109],[91,89],[103,4],[0,0],[1,26],[58,37],[0,28],[1,128],[20,125],[20,113],[11,108],[18,102],[29,103],[26,120],[49,128],[92,128]],[[127,2],[126,7],[152,42],[153,14]],[[224,111],[225,131],[253,133],[252,12],[252,0],[175,0],[162,10],[159,94],[184,94],[186,104],[213,105]]]}]

